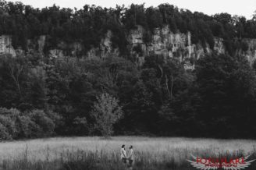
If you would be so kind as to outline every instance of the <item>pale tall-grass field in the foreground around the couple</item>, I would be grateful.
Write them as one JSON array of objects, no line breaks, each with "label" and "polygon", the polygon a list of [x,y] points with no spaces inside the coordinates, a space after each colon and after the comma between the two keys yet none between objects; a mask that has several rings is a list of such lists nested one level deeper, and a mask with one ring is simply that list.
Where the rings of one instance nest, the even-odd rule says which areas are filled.
[{"label": "pale tall-grass field in the foreground around the couple", "polygon": [[[256,158],[255,140],[212,140],[117,136],[65,137],[0,143],[0,169],[84,170],[126,169],[119,160],[122,144],[133,145],[133,169],[195,169],[186,160],[201,157]],[[256,161],[247,169],[255,169]]]}]

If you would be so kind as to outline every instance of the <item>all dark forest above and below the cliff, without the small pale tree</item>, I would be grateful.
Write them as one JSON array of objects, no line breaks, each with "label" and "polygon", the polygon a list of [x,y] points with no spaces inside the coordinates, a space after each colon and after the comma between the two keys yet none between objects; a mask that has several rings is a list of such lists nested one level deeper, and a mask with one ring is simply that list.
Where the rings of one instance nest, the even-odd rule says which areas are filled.
[{"label": "all dark forest above and below the cliff, without the small pale tree", "polygon": [[[1,55],[0,139],[101,135],[94,115],[101,94],[116,99],[122,109],[115,135],[254,138],[256,66],[235,51],[247,50],[244,38],[256,38],[255,19],[228,13],[208,16],[169,4],[34,9],[1,1],[0,34],[12,35],[14,48],[27,51],[29,39],[48,35],[44,51],[61,40],[79,41],[86,53],[112,30],[112,46],[120,55]],[[169,25],[173,33],[190,31],[194,44],[210,48],[214,37],[222,37],[227,53],[205,55],[193,70],[161,55],[149,55],[137,66],[126,41],[126,33],[137,25],[147,30],[145,42],[155,28]]]}]

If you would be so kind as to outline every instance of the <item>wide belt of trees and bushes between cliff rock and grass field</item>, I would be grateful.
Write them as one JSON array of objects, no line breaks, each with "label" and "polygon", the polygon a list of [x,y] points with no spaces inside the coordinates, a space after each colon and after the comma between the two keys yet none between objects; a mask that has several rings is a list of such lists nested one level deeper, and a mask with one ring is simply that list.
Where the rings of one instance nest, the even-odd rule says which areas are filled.
[{"label": "wide belt of trees and bushes between cliff rock and grass field", "polygon": [[256,72],[242,56],[204,56],[192,71],[158,55],[146,57],[141,68],[111,56],[2,56],[0,63],[2,138],[254,137]]}]

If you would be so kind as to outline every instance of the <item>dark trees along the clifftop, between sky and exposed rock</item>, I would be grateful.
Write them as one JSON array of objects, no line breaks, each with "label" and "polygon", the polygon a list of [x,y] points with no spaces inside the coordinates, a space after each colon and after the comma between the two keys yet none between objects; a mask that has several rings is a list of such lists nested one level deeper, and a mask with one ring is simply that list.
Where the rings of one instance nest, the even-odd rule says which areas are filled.
[{"label": "dark trees along the clifftop, between sky and exposed rock", "polygon": [[[161,4],[145,8],[144,4],[129,7],[116,5],[116,8],[102,8],[84,5],[83,9],[60,8],[57,5],[35,9],[21,2],[0,2],[0,34],[12,35],[14,48],[28,50],[27,41],[40,35],[48,36],[45,51],[55,48],[59,41],[78,41],[84,45],[83,54],[98,47],[102,37],[112,30],[112,46],[127,54],[126,34],[130,29],[141,25],[146,30],[144,41],[151,40],[152,31],[169,25],[173,33],[192,34],[192,43],[208,43],[214,47],[214,37],[222,37],[229,55],[234,49],[247,50],[243,38],[256,38],[255,16],[231,16],[219,13],[214,16],[202,12],[190,12],[174,5]],[[68,52],[68,50],[67,50]]]}]

